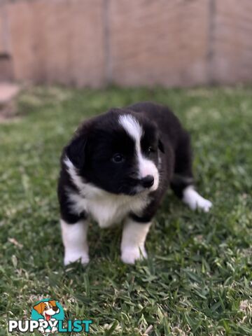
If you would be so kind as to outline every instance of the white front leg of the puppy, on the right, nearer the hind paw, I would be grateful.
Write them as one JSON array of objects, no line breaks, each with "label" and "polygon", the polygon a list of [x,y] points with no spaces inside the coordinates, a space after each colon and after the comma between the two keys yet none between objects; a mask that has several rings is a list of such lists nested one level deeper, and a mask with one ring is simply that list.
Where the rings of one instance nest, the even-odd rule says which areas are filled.
[{"label": "white front leg of the puppy, on the right, nearer the hind paw", "polygon": [[131,218],[125,221],[121,243],[121,259],[123,262],[134,264],[136,260],[147,258],[144,244],[150,227],[151,223],[137,223]]}]

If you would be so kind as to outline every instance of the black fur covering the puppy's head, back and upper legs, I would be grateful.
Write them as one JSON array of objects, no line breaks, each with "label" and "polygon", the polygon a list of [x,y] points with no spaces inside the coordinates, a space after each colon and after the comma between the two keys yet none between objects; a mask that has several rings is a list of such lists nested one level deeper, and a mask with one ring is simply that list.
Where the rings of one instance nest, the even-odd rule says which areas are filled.
[{"label": "black fur covering the puppy's head, back and upper legs", "polygon": [[[64,164],[66,156],[78,169],[83,181],[90,182],[109,193],[134,195],[139,184],[136,174],[134,141],[118,124],[120,114],[132,114],[144,130],[141,150],[158,167],[160,183],[152,192],[151,202],[141,216],[130,214],[135,221],[146,223],[158,210],[158,206],[169,186],[178,197],[183,189],[193,183],[192,153],[190,137],[183,130],[178,118],[167,107],[143,102],[125,109],[111,111],[85,121],[80,125],[73,139],[64,148],[58,184],[58,197],[62,218],[68,223],[76,223],[87,214],[74,214],[69,207],[67,193],[77,190]],[[148,148],[151,151],[148,153]],[[124,162],[113,162],[113,155],[120,153]],[[158,157],[161,158],[159,164]],[[120,196],[118,196],[120,197]]]}]

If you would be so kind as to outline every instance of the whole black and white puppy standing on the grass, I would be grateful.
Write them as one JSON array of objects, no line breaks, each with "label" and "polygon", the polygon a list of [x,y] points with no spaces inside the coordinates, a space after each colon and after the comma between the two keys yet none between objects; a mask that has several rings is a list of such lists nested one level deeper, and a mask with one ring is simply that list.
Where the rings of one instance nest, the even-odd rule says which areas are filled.
[{"label": "whole black and white puppy standing on the grass", "polygon": [[123,222],[123,262],[146,258],[146,236],[169,186],[191,209],[209,211],[193,186],[190,137],[167,107],[143,102],[86,120],[62,153],[64,264],[89,261],[90,218],[101,228]]}]

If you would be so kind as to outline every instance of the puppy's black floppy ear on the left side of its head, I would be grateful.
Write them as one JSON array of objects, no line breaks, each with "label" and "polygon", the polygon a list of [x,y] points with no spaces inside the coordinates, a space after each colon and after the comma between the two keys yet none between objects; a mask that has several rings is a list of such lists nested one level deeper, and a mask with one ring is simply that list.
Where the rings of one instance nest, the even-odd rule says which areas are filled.
[{"label": "puppy's black floppy ear on the left side of its head", "polygon": [[85,164],[85,146],[87,144],[87,139],[85,137],[76,137],[73,139],[69,146],[66,147],[66,155],[73,165],[81,169]]}]

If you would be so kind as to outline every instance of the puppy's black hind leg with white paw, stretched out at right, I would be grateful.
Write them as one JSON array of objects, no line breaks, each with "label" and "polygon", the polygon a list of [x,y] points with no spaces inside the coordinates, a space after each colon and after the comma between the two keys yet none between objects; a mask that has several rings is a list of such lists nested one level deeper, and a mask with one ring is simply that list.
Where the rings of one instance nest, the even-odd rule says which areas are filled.
[{"label": "puppy's black hind leg with white paw, stretched out at right", "polygon": [[190,137],[186,131],[183,131],[175,153],[175,169],[171,188],[175,195],[188,204],[190,209],[201,209],[204,212],[208,212],[212,207],[212,203],[195,190],[192,161],[193,155],[190,146]]}]

